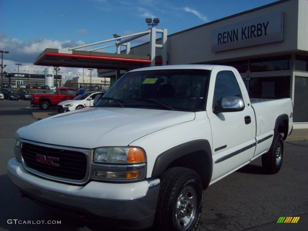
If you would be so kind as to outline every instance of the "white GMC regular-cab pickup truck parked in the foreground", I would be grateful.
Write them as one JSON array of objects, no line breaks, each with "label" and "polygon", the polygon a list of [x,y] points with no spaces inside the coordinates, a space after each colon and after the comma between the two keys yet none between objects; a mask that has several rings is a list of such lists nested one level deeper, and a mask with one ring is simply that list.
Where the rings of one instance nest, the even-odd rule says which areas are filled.
[{"label": "white GMC regular-cab pickup truck parked in the foreground", "polygon": [[261,155],[277,173],[292,128],[291,99],[250,100],[233,67],[142,68],[95,107],[18,129],[8,176],[30,198],[104,224],[195,230],[203,190]]}]

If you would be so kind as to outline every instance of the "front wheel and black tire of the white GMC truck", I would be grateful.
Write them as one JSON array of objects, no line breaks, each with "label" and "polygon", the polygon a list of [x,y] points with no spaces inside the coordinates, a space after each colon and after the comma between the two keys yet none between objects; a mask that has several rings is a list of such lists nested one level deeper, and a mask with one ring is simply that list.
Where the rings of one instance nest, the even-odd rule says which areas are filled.
[{"label": "front wheel and black tire of the white GMC truck", "polygon": [[202,210],[202,183],[189,168],[170,168],[162,176],[156,207],[156,230],[196,230]]}]

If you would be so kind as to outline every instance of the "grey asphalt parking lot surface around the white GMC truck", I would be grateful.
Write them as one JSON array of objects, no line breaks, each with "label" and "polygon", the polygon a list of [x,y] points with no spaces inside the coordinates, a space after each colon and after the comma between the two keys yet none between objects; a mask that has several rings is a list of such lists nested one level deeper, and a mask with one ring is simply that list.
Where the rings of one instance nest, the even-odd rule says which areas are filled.
[{"label": "grey asphalt parking lot surface around the white GMC truck", "polygon": [[[39,109],[26,110],[27,106],[30,106],[29,101],[0,101],[0,230],[123,230],[55,214],[20,196],[7,176],[6,163],[14,156],[15,131],[35,122],[38,119],[35,113],[42,113]],[[51,109],[44,113],[53,115],[56,111]],[[285,143],[284,162],[278,174],[264,174],[258,158],[211,185],[204,191],[198,231],[307,230],[307,165],[308,141],[289,140]],[[133,211],[134,208],[128,209]],[[299,217],[299,220],[297,223],[277,223],[280,217]],[[61,224],[38,221],[61,221]]]}]

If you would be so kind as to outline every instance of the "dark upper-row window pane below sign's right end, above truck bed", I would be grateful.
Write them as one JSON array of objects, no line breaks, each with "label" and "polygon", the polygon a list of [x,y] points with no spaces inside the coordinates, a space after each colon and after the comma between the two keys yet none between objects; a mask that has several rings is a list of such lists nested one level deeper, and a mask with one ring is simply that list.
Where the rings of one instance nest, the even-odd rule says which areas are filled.
[{"label": "dark upper-row window pane below sign's right end, above truck bed", "polygon": [[250,71],[286,71],[291,69],[291,55],[250,59]]}]

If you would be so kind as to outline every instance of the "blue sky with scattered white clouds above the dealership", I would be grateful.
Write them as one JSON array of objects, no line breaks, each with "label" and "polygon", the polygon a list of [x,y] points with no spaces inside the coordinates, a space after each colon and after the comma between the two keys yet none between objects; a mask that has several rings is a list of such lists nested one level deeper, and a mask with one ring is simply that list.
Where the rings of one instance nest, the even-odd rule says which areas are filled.
[{"label": "blue sky with scattered white clouds above the dealership", "polygon": [[[33,65],[45,48],[75,47],[148,29],[145,18],[159,18],[159,29],[168,34],[277,0],[0,0],[0,50],[4,71],[44,74]],[[132,46],[148,42],[144,36]],[[87,48],[92,49],[91,48]],[[101,52],[115,53],[115,47]],[[82,68],[61,69],[70,78]],[[92,72],[93,73],[93,72]]]}]

